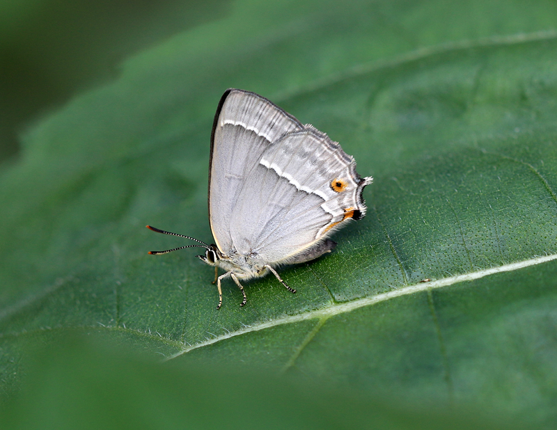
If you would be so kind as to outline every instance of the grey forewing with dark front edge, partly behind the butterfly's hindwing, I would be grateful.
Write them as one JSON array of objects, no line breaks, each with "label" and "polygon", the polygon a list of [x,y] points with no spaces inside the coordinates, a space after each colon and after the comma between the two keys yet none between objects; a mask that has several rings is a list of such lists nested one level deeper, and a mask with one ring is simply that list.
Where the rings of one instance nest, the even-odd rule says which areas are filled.
[{"label": "grey forewing with dark front edge, partly behind the butterfly's hindwing", "polygon": [[251,177],[253,166],[281,136],[303,128],[296,118],[255,93],[230,89],[221,97],[211,134],[209,220],[223,253],[235,249],[230,232],[237,222],[235,208],[253,204],[244,200],[246,193],[258,189]]}]

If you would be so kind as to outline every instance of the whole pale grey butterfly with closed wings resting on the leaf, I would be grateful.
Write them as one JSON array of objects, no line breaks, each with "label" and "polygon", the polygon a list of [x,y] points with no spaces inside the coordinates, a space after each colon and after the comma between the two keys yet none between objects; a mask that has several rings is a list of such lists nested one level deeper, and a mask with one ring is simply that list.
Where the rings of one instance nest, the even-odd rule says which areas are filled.
[{"label": "whole pale grey butterfly with closed wings resting on the leaf", "polygon": [[[350,220],[366,214],[363,188],[372,177],[356,173],[354,158],[312,125],[244,90],[221,97],[211,133],[209,221],[216,244],[151,251],[165,254],[199,246],[198,255],[215,266],[222,305],[221,280],[240,280],[276,272],[283,264],[314,260],[336,247],[328,237]],[[226,273],[218,276],[217,268]]]}]

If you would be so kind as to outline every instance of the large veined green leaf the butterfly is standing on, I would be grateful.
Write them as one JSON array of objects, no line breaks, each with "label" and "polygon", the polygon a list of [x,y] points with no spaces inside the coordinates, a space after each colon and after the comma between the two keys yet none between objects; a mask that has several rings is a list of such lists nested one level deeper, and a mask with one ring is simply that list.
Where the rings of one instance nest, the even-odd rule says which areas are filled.
[{"label": "large veined green leaf the butterfly is standing on", "polygon": [[[557,401],[552,2],[237,1],[24,136],[0,177],[0,379],[97,333],[189,369],[267,367],[549,426]],[[155,225],[212,241],[208,140],[227,87],[339,141],[375,182],[335,253],[233,282]],[[430,280],[429,282],[421,282]],[[31,352],[26,352],[31,351]],[[255,380],[254,380],[255,381]]]}]

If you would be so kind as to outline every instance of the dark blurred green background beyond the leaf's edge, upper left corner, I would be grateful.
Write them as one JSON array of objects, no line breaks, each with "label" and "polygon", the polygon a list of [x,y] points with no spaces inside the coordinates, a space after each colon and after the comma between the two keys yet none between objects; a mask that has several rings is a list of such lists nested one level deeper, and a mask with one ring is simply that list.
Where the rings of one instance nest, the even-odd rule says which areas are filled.
[{"label": "dark blurred green background beyond the leaf's edge, upper left corner", "polygon": [[118,76],[126,56],[202,22],[229,1],[0,2],[0,162],[18,135],[79,93]]}]

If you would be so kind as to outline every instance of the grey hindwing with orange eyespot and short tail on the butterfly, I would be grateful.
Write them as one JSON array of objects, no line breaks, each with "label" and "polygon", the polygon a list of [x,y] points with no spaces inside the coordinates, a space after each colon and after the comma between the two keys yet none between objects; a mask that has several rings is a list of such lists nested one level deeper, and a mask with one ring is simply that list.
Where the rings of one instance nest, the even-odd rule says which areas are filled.
[{"label": "grey hindwing with orange eyespot and short tail on the butterfly", "polygon": [[269,264],[311,260],[336,228],[366,214],[361,194],[372,180],[360,177],[354,159],[311,125],[267,145],[249,177],[230,237],[241,254]]}]

